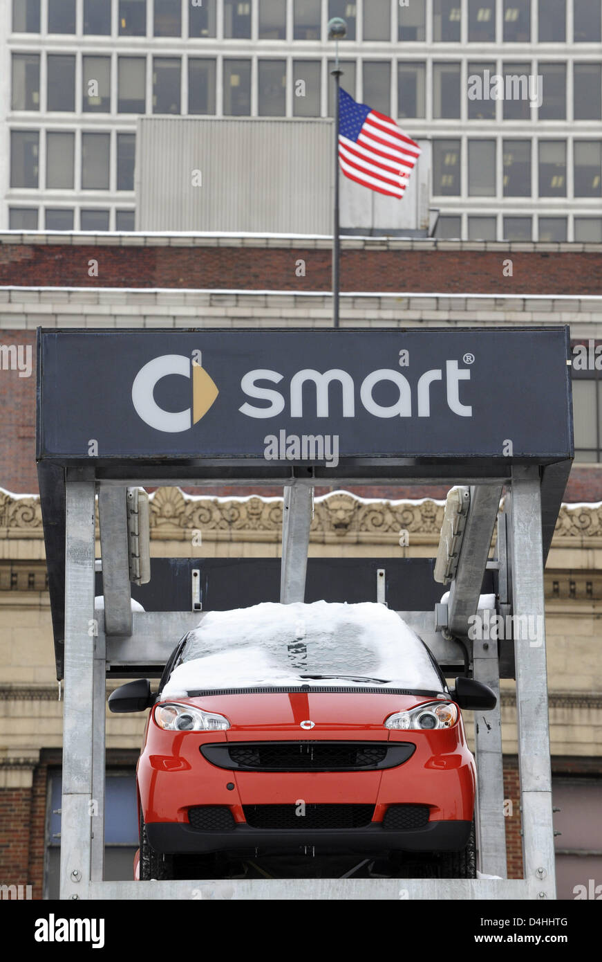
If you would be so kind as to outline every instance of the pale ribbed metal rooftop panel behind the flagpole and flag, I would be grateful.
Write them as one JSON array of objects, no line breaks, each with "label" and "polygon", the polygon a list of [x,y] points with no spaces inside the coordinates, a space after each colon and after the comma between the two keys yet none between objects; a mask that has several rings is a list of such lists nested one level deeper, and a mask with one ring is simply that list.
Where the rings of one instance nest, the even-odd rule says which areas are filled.
[{"label": "pale ribbed metal rooftop panel behind the flagpole and flag", "polygon": [[[342,229],[426,230],[421,147],[403,200],[341,175]],[[330,119],[140,117],[136,230],[330,235],[333,149]]]}]

